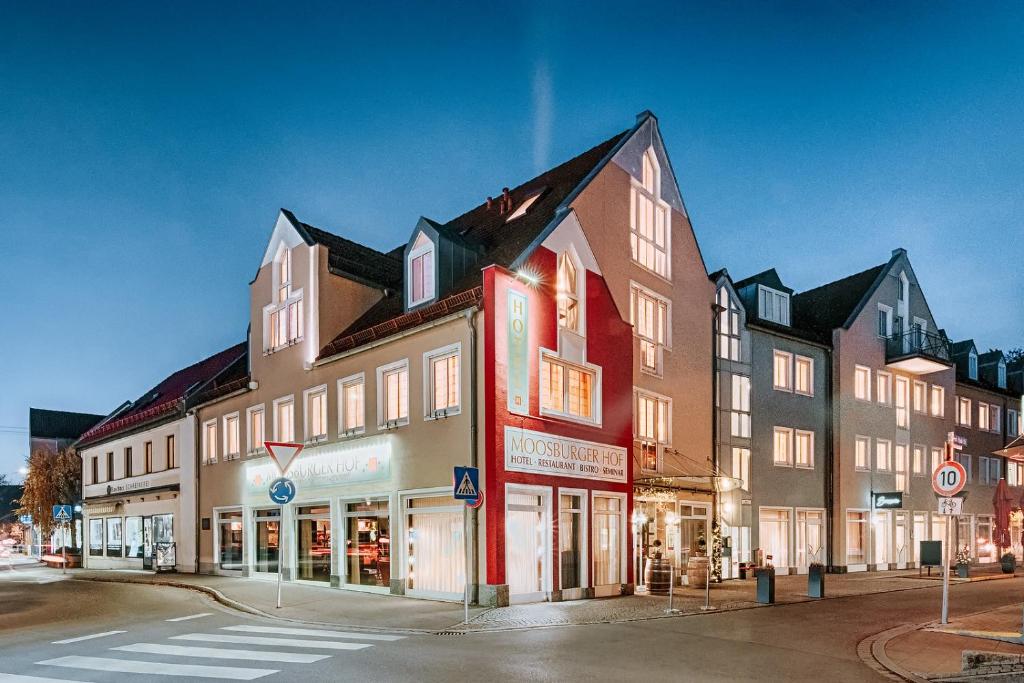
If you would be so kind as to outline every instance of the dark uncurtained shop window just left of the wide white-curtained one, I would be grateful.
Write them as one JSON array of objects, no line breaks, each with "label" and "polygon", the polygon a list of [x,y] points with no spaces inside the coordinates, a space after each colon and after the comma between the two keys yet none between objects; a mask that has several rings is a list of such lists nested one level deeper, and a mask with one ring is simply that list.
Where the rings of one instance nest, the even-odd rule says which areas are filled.
[{"label": "dark uncurtained shop window just left of the wide white-curtained one", "polygon": [[345,582],[391,586],[391,518],[388,502],[345,506]]}]

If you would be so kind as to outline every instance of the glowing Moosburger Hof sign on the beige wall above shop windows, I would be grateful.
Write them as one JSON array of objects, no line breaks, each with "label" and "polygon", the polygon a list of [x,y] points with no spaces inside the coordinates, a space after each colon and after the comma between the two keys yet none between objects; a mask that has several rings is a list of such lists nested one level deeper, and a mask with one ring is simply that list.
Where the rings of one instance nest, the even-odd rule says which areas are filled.
[{"label": "glowing Moosburger Hof sign on the beige wall above shop windows", "polygon": [[[279,476],[278,466],[269,458],[246,465],[246,486],[250,493],[265,496],[266,487]],[[288,478],[300,492],[390,477],[391,440],[387,437],[306,449],[288,470]]]}]

